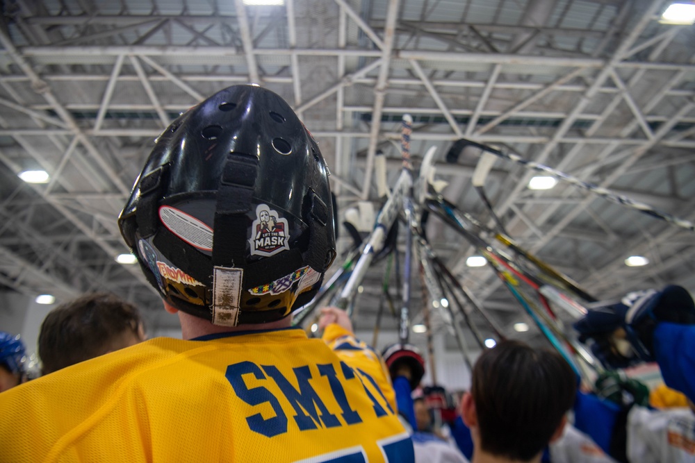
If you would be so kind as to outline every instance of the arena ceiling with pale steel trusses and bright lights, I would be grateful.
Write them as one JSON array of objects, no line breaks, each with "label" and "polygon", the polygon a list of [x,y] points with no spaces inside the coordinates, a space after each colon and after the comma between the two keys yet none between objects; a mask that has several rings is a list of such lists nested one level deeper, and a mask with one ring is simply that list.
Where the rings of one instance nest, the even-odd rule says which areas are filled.
[{"label": "arena ceiling with pale steel trusses and bright lights", "polygon": [[[379,208],[375,154],[385,153],[393,186],[408,113],[416,167],[436,146],[437,176],[449,183],[443,196],[486,223],[491,216],[471,185],[477,158],[444,161],[459,138],[502,146],[692,221],[695,26],[661,24],[667,6],[6,0],[0,284],[58,301],[106,289],[144,308],[154,332],[175,326],[138,267],[115,261],[128,252],[115,219],[154,138],[180,112],[237,83],[258,83],[291,103],[320,143],[342,211],[358,201]],[[48,182],[20,180],[27,169],[47,171]],[[569,183],[529,190],[533,175],[498,160],[485,184],[525,249],[598,298],[667,283],[695,290],[691,230]],[[475,250],[441,221],[430,222],[436,253],[502,328],[512,332],[528,320],[492,271],[466,267]],[[630,255],[650,263],[627,267]],[[363,283],[361,328],[375,323],[383,273],[381,264]],[[421,319],[418,291],[414,321]]]}]

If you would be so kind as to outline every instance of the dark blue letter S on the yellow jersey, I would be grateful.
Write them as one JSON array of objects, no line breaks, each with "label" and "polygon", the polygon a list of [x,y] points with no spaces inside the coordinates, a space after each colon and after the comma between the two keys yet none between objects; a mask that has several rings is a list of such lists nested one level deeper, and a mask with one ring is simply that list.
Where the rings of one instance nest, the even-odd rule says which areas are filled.
[{"label": "dark blue letter S on the yellow jersey", "polygon": [[282,411],[277,398],[273,396],[265,387],[254,387],[248,389],[242,378],[245,374],[252,373],[257,380],[264,380],[265,375],[258,365],[252,362],[240,362],[227,367],[227,373],[224,376],[234,388],[234,392],[245,403],[249,405],[261,405],[261,403],[270,403],[272,410],[275,411],[275,416],[268,419],[263,419],[260,413],[247,416],[246,422],[252,431],[258,432],[265,437],[273,437],[284,432],[287,432],[287,416]]}]

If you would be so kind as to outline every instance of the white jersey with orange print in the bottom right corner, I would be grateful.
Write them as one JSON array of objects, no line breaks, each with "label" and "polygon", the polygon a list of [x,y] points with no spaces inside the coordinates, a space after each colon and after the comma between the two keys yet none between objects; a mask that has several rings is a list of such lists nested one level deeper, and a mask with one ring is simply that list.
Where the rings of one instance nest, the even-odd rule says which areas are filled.
[{"label": "white jersey with orange print in the bottom right corner", "polygon": [[695,463],[695,414],[687,408],[649,410],[635,405],[627,430],[630,463]]}]

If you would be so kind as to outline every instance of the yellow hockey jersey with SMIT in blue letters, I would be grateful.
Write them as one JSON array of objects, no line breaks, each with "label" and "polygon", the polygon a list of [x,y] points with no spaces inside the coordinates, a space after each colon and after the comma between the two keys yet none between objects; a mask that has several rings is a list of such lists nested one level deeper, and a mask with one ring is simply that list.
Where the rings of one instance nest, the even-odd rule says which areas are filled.
[{"label": "yellow hockey jersey with SMIT in blue letters", "polygon": [[0,394],[0,462],[413,462],[379,355],[324,338],[161,337],[51,373]]}]

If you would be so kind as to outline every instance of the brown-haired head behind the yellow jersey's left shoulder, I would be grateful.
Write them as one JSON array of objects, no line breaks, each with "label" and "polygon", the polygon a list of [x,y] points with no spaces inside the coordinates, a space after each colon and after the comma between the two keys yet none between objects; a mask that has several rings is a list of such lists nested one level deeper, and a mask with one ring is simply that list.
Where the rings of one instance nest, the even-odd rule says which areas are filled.
[{"label": "brown-haired head behind the yellow jersey's left shoulder", "polygon": [[52,373],[145,339],[138,309],[114,294],[85,294],[51,310],[41,324],[42,372]]}]

